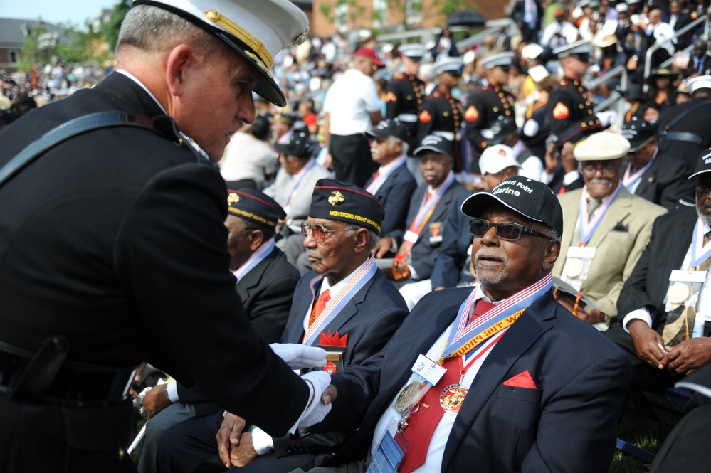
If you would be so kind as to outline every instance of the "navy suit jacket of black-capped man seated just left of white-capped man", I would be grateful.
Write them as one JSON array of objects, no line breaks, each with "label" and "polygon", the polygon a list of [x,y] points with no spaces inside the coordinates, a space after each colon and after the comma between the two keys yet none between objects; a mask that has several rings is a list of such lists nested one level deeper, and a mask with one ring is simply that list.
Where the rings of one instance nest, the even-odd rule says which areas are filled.
[{"label": "navy suit jacket of black-capped man seated just left of white-capped man", "polygon": [[[420,204],[422,203],[422,199],[425,197],[426,192],[427,184],[422,184],[417,188],[410,199],[410,207],[407,213],[407,223],[404,230],[397,230],[389,235],[395,238],[398,245],[402,245],[405,230],[410,227],[412,221],[417,216],[417,212],[420,210]],[[455,198],[460,194],[467,192],[466,188],[459,184],[458,181],[453,181],[447,190],[442,194],[442,198],[437,203],[436,208],[432,212],[432,216],[425,225],[425,228],[423,228],[420,232],[416,243],[412,246],[412,250],[410,250],[410,255],[412,257],[410,265],[414,267],[414,270],[417,272],[418,280],[426,280],[430,277],[432,268],[434,267],[437,256],[439,255],[441,243],[431,243],[430,241],[430,237],[432,236],[432,224],[440,223],[441,226],[439,228],[443,235],[445,230],[445,220],[449,215],[449,209],[452,207]]]}]

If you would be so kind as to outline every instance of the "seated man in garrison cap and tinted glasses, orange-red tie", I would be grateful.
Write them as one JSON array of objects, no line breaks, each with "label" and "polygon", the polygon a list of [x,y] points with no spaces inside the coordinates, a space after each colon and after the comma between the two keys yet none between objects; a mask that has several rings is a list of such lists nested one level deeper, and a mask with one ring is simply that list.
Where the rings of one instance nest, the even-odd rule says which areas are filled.
[{"label": "seated man in garrison cap and tinted glasses, orange-red tie", "polygon": [[[308,220],[302,223],[313,272],[296,288],[281,341],[336,346],[324,368],[329,372],[359,365],[378,353],[407,314],[402,297],[370,253],[383,214],[381,204],[362,188],[331,179],[316,183]],[[236,416],[228,414],[223,420],[218,413],[173,427],[161,442],[159,471],[222,471],[235,466],[246,472],[290,472],[314,464],[315,447],[335,450],[352,433],[344,429],[272,438],[254,429],[240,437],[243,426]]]}]

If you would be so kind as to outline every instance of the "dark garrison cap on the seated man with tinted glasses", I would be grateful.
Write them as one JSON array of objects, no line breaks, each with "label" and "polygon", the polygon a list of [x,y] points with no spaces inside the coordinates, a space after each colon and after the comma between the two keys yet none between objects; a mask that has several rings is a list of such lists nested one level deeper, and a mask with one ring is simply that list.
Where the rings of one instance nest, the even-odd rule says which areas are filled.
[{"label": "dark garrison cap on the seated man with tinted glasses", "polygon": [[354,223],[380,233],[385,208],[364,188],[334,179],[319,179],[311,197],[309,216]]}]

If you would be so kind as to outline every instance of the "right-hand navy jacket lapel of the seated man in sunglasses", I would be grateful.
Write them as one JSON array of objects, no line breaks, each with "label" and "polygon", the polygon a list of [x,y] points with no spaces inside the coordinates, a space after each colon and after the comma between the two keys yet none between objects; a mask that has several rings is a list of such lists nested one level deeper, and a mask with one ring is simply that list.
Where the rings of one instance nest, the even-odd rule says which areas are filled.
[{"label": "right-hand navy jacket lapel of the seated man in sunglasses", "polygon": [[442,458],[442,471],[447,469],[458,445],[472,430],[478,414],[506,381],[505,377],[513,364],[551,328],[546,321],[555,317],[554,304],[557,303],[551,292],[534,302],[488,354],[452,427]]}]

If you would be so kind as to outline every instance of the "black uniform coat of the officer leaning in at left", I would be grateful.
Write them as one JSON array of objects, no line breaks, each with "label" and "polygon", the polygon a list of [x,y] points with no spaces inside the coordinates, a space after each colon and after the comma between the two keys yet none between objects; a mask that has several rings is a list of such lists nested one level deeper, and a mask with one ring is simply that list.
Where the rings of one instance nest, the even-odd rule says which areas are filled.
[{"label": "black uniform coat of the officer leaning in at left", "polygon": [[[105,110],[162,115],[142,87],[114,73],[0,132],[0,165],[66,120]],[[219,171],[168,125],[161,134],[81,134],[0,187],[0,339],[34,350],[65,334],[72,361],[147,360],[283,434],[307,386],[244,315],[228,271]],[[273,392],[275,384],[283,388]],[[83,418],[88,427],[78,430],[93,432],[95,419]]]}]

